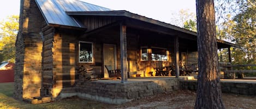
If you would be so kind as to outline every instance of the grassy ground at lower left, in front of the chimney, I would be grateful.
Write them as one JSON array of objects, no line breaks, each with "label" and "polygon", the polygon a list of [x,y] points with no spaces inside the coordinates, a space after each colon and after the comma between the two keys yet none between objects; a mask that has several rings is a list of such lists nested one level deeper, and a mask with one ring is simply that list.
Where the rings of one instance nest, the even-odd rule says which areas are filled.
[{"label": "grassy ground at lower left, in front of the chimney", "polygon": [[5,108],[29,108],[29,109],[56,109],[56,108],[108,108],[109,104],[103,104],[96,101],[83,100],[76,97],[49,102],[45,104],[29,104],[25,101],[19,101],[13,98],[14,83],[1,83],[0,84],[0,109]]}]

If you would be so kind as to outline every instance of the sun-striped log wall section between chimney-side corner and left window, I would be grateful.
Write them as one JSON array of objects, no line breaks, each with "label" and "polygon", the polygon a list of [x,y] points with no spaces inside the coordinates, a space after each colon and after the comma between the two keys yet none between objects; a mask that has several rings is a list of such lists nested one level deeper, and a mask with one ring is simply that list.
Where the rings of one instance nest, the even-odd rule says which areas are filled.
[{"label": "sun-striped log wall section between chimney-side corner and left window", "polygon": [[[75,82],[78,75],[75,71],[76,66],[76,37],[74,34],[56,31],[53,36],[52,48],[52,74],[53,89],[52,98],[55,99],[65,88],[70,92],[75,90]],[[70,89],[70,90],[69,90]]]}]

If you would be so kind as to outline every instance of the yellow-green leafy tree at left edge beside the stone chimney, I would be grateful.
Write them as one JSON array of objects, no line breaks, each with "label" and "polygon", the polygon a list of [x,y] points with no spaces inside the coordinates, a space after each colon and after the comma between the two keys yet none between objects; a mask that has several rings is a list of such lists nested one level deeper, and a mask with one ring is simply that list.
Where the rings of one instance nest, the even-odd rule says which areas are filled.
[{"label": "yellow-green leafy tree at left edge beside the stone chimney", "polygon": [[7,17],[0,22],[0,54],[4,61],[15,61],[15,41],[19,29],[19,16]]}]

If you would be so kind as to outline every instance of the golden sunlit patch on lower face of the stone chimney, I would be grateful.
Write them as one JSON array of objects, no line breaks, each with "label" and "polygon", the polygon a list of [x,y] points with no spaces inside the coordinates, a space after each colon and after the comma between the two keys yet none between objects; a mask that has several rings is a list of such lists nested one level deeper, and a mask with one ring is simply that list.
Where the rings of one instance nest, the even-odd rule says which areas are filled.
[{"label": "golden sunlit patch on lower face of the stone chimney", "polygon": [[42,46],[42,42],[34,41],[25,48],[23,98],[40,97]]}]

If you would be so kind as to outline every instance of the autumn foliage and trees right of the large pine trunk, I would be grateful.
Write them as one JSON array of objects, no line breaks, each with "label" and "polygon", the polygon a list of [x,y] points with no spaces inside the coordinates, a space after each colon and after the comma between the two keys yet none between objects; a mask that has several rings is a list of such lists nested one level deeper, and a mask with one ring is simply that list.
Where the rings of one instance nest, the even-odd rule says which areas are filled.
[{"label": "autumn foliage and trees right of the large pine trunk", "polygon": [[[256,2],[251,1],[219,1],[216,13],[219,25],[219,37],[241,48],[233,48],[231,56],[233,64],[256,64]],[[217,14],[217,15],[218,15]],[[225,16],[224,16],[225,15]],[[223,54],[228,56],[227,52]]]}]

